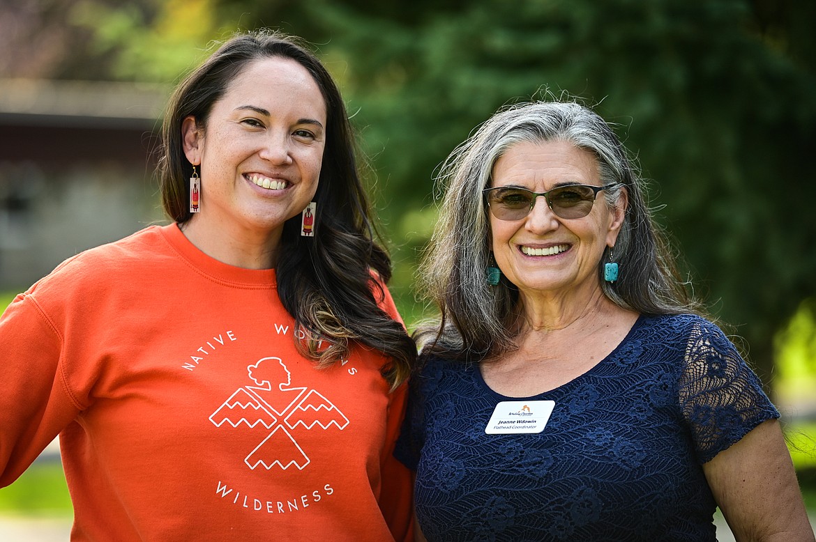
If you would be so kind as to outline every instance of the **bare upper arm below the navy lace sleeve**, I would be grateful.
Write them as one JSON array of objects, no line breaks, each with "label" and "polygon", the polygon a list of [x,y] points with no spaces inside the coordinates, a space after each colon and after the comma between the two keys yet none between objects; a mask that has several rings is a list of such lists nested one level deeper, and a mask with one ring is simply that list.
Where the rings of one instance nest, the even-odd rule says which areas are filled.
[{"label": "bare upper arm below the navy lace sleeve", "polygon": [[778,421],[757,425],[703,471],[736,540],[814,541]]}]

